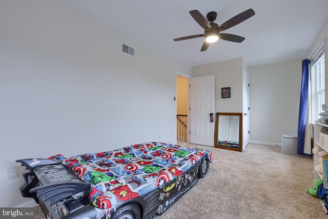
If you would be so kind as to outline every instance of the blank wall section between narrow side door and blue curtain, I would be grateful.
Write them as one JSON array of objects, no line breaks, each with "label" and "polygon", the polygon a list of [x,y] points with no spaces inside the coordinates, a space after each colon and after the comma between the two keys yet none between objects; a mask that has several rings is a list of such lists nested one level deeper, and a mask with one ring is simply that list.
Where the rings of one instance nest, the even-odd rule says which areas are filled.
[{"label": "blank wall section between narrow side door and blue curtain", "polygon": [[249,67],[250,141],[281,144],[281,132],[297,132],[302,59]]}]

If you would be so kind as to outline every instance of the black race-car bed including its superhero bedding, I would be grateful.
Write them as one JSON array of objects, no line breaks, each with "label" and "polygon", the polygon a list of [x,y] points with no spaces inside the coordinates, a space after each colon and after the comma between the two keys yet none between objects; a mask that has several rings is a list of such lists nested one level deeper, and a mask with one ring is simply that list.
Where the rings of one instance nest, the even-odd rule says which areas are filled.
[{"label": "black race-car bed including its superhero bedding", "polygon": [[17,160],[24,197],[48,218],[155,218],[207,174],[209,150],[150,142],[100,153]]}]

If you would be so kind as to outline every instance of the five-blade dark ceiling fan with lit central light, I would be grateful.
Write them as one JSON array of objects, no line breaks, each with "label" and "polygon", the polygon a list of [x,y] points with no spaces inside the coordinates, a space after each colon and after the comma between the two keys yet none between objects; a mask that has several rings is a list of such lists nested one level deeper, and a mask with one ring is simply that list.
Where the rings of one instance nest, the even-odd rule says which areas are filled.
[{"label": "five-blade dark ceiling fan with lit central light", "polygon": [[[192,39],[197,37],[205,37],[205,42],[202,45],[200,51],[205,51],[210,46],[211,43],[214,43],[218,41],[218,39],[224,39],[226,41],[241,43],[245,39],[242,36],[229,34],[229,33],[220,33],[221,31],[227,30],[245,20],[250,18],[255,14],[255,11],[253,9],[245,10],[244,12],[241,12],[240,14],[237,14],[236,16],[232,17],[228,21],[224,22],[220,26],[214,23],[217,13],[215,11],[209,12],[206,17],[207,19],[198,11],[198,10],[192,10],[189,11],[191,16],[195,19],[195,21],[204,28],[204,34],[197,34],[197,35],[191,35],[191,36],[183,36],[179,38],[173,39],[174,41],[183,41],[185,39]],[[208,23],[208,21],[210,23]]]}]

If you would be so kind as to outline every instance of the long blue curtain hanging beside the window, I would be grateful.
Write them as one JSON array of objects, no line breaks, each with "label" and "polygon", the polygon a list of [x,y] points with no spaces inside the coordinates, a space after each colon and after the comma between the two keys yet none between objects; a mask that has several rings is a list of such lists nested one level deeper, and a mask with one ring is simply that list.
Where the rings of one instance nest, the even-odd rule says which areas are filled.
[{"label": "long blue curtain hanging beside the window", "polygon": [[304,151],[304,136],[306,126],[306,114],[308,113],[308,94],[309,94],[309,59],[302,61],[302,85],[301,85],[301,98],[299,103],[299,116],[298,116],[298,132],[297,132],[297,154],[311,156],[305,154]]}]

